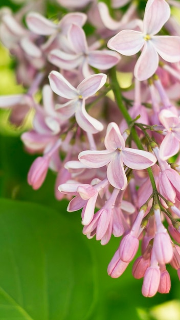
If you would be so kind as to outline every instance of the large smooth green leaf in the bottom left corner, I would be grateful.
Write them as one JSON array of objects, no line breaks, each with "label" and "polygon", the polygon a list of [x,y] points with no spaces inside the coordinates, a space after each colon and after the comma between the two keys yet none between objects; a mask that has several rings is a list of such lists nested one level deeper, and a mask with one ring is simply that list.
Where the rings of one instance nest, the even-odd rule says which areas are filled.
[{"label": "large smooth green leaf in the bottom left corner", "polygon": [[0,319],[87,319],[96,272],[83,236],[50,208],[7,199],[0,208]]}]

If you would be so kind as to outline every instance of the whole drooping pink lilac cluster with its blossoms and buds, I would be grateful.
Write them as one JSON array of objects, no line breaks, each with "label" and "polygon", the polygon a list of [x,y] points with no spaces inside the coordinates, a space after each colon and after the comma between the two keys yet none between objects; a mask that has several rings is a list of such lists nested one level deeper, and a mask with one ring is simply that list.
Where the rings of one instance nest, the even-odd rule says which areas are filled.
[{"label": "whole drooping pink lilac cluster with its blossoms and buds", "polygon": [[60,20],[45,17],[41,1],[0,11],[0,39],[26,89],[1,96],[0,106],[17,126],[34,110],[21,135],[41,154],[28,183],[38,189],[49,168],[56,172],[55,196],[70,200],[69,212],[82,209],[83,234],[102,245],[121,237],[108,275],[122,275],[141,240],[132,275],[144,278],[144,296],[168,293],[166,264],[180,279],[180,24],[170,13],[179,3],[148,0],[143,11],[111,0],[114,18],[97,0],[57,3],[68,12]]}]

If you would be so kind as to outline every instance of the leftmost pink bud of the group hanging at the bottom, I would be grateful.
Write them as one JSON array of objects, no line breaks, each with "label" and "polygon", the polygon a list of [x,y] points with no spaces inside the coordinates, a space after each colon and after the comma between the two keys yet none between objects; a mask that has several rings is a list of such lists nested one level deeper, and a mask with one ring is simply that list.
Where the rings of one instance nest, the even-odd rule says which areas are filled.
[{"label": "leftmost pink bud of the group hanging at the bottom", "polygon": [[125,271],[128,264],[128,262],[124,262],[120,259],[119,250],[117,250],[107,267],[107,273],[111,278],[118,278]]}]

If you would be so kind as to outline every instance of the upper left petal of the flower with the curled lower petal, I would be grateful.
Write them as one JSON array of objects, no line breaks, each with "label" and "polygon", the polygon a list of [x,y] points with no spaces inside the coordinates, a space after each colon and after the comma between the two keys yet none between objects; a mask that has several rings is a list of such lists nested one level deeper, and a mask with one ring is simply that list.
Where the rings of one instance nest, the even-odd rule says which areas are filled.
[{"label": "upper left petal of the flower with the curled lower petal", "polygon": [[49,75],[52,90],[60,97],[66,99],[77,98],[76,89],[59,72],[52,71]]}]

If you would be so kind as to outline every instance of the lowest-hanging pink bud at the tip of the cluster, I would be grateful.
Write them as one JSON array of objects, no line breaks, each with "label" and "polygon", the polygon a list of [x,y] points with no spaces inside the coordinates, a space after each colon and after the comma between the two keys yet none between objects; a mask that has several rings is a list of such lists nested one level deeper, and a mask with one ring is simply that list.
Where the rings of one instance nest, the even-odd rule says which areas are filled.
[{"label": "lowest-hanging pink bud at the tip of the cluster", "polygon": [[153,296],[159,288],[161,272],[159,266],[150,266],[147,268],[142,286],[144,296]]}]

